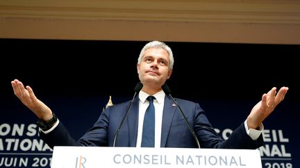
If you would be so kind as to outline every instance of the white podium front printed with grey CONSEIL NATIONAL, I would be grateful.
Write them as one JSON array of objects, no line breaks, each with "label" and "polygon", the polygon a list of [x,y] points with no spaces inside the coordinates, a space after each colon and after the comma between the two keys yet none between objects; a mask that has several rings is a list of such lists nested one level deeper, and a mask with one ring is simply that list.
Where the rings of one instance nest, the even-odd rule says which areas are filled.
[{"label": "white podium front printed with grey CONSEIL NATIONAL", "polygon": [[54,147],[51,168],[261,168],[260,151],[140,147]]}]

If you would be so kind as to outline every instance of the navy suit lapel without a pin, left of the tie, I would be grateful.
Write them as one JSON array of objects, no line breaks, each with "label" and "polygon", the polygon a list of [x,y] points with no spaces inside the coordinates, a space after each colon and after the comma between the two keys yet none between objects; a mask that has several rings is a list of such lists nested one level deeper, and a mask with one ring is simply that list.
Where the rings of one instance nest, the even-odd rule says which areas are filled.
[{"label": "navy suit lapel without a pin, left of the tie", "polygon": [[129,132],[129,146],[136,147],[136,140],[138,138],[138,111],[139,111],[139,98],[135,97],[133,105],[128,113],[127,123]]}]

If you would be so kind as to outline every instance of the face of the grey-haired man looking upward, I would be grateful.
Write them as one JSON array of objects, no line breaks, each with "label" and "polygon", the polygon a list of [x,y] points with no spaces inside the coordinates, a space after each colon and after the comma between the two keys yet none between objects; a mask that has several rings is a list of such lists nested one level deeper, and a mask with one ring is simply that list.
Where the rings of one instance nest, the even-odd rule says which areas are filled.
[{"label": "face of the grey-haired man looking upward", "polygon": [[163,48],[149,48],[145,50],[142,62],[137,65],[140,82],[144,86],[160,88],[169,79],[169,54]]}]

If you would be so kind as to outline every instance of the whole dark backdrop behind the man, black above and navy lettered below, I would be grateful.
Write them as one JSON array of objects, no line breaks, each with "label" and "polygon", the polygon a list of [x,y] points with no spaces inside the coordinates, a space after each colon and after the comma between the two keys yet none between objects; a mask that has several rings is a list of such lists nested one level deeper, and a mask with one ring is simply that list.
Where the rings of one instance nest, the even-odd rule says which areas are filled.
[{"label": "whole dark backdrop behind the man, black above and navy lettered below", "polygon": [[[51,150],[38,138],[37,118],[13,95],[15,78],[32,86],[75,139],[96,122],[109,95],[130,100],[136,63],[148,41],[0,39],[0,167],[49,167]],[[300,167],[300,45],[167,42],[174,97],[199,102],[226,138],[273,86],[285,100],[265,120],[264,168]],[[5,58],[5,59],[4,59]]]}]

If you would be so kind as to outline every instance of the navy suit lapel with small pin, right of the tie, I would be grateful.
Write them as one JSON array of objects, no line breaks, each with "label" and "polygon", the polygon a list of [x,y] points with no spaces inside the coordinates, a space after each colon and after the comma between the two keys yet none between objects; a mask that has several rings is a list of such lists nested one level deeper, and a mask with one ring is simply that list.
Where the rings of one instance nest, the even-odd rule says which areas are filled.
[{"label": "navy suit lapel with small pin, right of the tie", "polygon": [[165,105],[163,108],[163,125],[162,125],[160,147],[165,147],[176,109],[177,109],[176,104],[174,104],[174,102],[169,98],[169,96],[166,95]]}]

